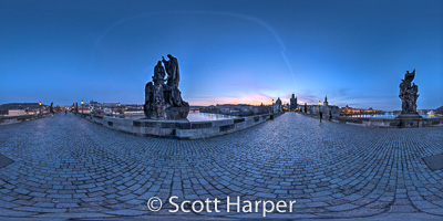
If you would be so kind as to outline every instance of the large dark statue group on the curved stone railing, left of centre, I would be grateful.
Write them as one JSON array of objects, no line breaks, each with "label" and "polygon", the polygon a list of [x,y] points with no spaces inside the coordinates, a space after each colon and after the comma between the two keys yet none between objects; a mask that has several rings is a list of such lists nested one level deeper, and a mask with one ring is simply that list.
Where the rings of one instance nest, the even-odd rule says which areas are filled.
[{"label": "large dark statue group on the curved stone railing, left of centre", "polygon": [[182,99],[178,90],[178,60],[171,54],[167,57],[168,61],[162,56],[157,62],[153,81],[145,86],[144,114],[150,119],[186,119],[189,104]]}]

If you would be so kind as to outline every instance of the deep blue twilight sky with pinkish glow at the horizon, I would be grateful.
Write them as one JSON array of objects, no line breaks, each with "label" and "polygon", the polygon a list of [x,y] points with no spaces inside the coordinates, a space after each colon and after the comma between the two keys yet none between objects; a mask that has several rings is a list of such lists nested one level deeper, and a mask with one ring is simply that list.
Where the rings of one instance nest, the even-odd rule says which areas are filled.
[{"label": "deep blue twilight sky with pinkish glow at the horizon", "polygon": [[393,110],[416,70],[418,108],[443,105],[443,1],[0,0],[0,104],[142,104],[178,59],[190,105],[280,97]]}]

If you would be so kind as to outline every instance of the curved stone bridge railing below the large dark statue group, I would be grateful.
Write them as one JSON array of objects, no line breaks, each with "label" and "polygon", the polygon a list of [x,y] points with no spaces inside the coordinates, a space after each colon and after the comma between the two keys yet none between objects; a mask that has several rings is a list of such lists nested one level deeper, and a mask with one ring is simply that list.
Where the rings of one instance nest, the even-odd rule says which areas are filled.
[{"label": "curved stone bridge railing below the large dark statue group", "polygon": [[275,114],[274,116],[271,116],[271,114],[264,114],[231,119],[203,122],[131,119],[92,114],[80,114],[80,116],[107,128],[138,136],[202,139],[238,131],[264,123],[271,117],[274,118],[274,116],[278,115]]}]

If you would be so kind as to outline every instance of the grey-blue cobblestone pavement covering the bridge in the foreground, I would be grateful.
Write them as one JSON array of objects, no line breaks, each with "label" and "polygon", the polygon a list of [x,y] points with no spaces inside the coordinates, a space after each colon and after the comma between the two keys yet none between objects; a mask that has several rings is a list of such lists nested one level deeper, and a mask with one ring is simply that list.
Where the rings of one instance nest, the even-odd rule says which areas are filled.
[{"label": "grey-blue cobblestone pavement covering the bridge in the foreground", "polygon": [[[442,218],[443,171],[422,160],[442,151],[442,127],[365,128],[288,113],[222,137],[176,140],[62,114],[0,126],[0,154],[14,161],[0,168],[0,219],[150,218],[171,214],[171,196],[297,200],[292,213],[267,218]],[[146,208],[154,196],[164,201],[158,212]]]}]

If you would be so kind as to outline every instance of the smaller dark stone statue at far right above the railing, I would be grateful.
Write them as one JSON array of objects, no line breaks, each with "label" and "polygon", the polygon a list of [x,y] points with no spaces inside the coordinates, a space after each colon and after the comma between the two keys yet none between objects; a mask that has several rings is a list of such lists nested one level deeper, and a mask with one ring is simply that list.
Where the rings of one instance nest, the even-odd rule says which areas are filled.
[{"label": "smaller dark stone statue at far right above the railing", "polygon": [[413,72],[406,71],[404,74],[404,80],[400,83],[400,94],[399,97],[402,101],[402,112],[401,115],[413,115],[419,116],[416,112],[416,99],[419,98],[419,86],[412,81],[415,77],[415,70]]}]

